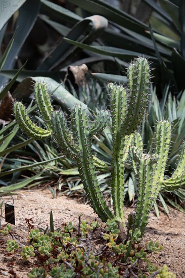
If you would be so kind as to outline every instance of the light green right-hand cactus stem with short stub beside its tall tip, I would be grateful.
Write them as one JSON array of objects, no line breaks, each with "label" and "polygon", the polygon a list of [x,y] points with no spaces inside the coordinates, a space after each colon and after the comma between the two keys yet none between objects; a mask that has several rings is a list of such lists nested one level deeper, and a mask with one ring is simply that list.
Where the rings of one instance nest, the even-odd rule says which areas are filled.
[{"label": "light green right-hand cactus stem with short stub beside its tall tip", "polygon": [[145,232],[149,213],[161,190],[167,163],[171,127],[169,122],[160,121],[156,130],[156,149],[153,155],[142,154],[142,147],[132,148],[131,156],[137,165],[138,199],[135,227]]}]

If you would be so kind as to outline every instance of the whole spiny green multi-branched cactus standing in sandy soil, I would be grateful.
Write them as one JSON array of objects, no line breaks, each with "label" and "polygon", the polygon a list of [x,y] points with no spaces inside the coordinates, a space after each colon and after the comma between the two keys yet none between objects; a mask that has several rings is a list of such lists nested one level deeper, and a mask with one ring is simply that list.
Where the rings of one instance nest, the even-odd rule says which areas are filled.
[{"label": "whole spiny green multi-branched cactus standing in sandy soil", "polygon": [[[30,136],[43,140],[53,136],[64,152],[76,159],[79,174],[89,203],[103,221],[113,219],[118,223],[120,237],[125,239],[124,216],[124,165],[130,154],[137,176],[138,200],[133,223],[130,226],[141,230],[141,237],[148,223],[149,213],[163,186],[179,187],[184,183],[184,156],[169,180],[164,180],[170,144],[170,124],[160,121],[156,129],[155,153],[145,153],[142,138],[137,132],[148,102],[150,68],[146,58],[138,58],[127,70],[127,87],[108,84],[110,90],[110,113],[100,111],[94,121],[89,120],[84,107],[77,104],[71,110],[69,125],[62,111],[53,111],[44,83],[35,84],[35,98],[48,130],[41,129],[26,114],[22,103],[14,105],[18,124]],[[96,157],[91,138],[101,132],[106,125],[112,129],[111,186],[113,212],[108,207],[99,187],[97,169],[107,171],[106,162]],[[130,219],[133,218],[130,216]]]}]

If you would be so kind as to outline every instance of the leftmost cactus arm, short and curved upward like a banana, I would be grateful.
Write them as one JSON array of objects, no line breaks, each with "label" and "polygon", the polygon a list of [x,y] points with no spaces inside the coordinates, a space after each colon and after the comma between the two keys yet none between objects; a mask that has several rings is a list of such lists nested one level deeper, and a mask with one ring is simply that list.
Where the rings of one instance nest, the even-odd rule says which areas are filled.
[{"label": "leftmost cactus arm, short and curved upward like a banana", "polygon": [[37,140],[43,140],[51,136],[50,130],[43,129],[31,121],[21,102],[16,102],[14,104],[14,115],[21,129],[26,132],[28,136]]}]

